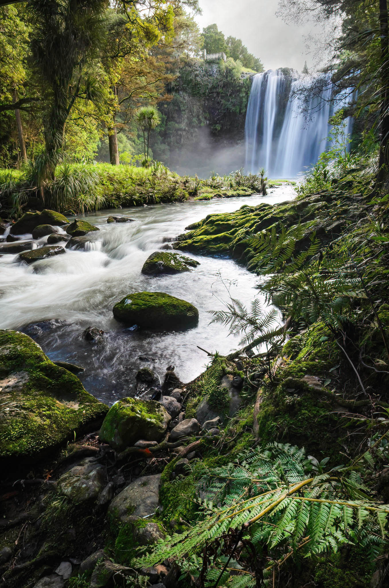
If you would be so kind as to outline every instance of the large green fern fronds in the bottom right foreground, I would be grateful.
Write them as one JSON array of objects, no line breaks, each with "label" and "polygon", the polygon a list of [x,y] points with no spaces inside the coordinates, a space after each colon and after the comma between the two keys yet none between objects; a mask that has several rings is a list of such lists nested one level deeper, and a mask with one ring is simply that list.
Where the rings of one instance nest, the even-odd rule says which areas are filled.
[{"label": "large green fern fronds in the bottom right foreground", "polygon": [[[290,445],[250,449],[237,463],[209,470],[198,487],[202,496],[206,493],[198,499],[199,522],[183,534],[161,540],[137,566],[172,557],[183,570],[198,576],[203,558],[197,560],[195,554],[205,550],[213,556],[204,585],[213,586],[215,574],[222,572],[232,544],[237,543],[232,538],[237,537],[237,558],[244,559],[249,548],[260,553],[266,546],[262,566],[266,583],[266,571],[289,557],[322,556],[356,542],[377,554],[387,540],[389,505],[361,498],[365,487],[357,482],[354,470],[344,467],[317,475],[313,461]],[[227,566],[224,574],[229,570]],[[231,569],[223,586],[257,582],[258,572]]]}]

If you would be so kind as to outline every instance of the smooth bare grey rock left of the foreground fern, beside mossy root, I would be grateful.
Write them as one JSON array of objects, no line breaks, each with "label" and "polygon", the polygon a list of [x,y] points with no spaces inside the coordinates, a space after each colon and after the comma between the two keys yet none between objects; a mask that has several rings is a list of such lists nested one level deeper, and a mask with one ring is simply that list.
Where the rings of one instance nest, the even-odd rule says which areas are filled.
[{"label": "smooth bare grey rock left of the foreground fern, beside mossy root", "polygon": [[143,519],[153,515],[159,504],[160,477],[160,474],[142,476],[131,482],[112,500],[108,514],[118,523],[132,522],[134,517]]}]

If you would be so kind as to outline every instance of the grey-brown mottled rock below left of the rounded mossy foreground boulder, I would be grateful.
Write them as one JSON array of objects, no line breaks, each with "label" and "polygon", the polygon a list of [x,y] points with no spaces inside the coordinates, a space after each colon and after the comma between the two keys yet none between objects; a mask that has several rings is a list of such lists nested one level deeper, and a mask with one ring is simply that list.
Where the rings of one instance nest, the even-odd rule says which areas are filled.
[{"label": "grey-brown mottled rock below left of the rounded mossy foreground boulder", "polygon": [[75,504],[95,500],[105,486],[105,469],[93,457],[84,459],[58,480],[58,492]]}]

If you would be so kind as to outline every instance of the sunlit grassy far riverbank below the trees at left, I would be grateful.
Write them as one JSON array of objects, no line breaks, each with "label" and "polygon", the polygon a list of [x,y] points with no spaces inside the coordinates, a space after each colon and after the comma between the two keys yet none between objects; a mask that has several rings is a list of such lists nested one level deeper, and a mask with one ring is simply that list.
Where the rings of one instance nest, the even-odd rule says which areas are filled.
[{"label": "sunlit grassy far riverbank below the trees at left", "polygon": [[200,179],[179,176],[159,162],[149,168],[95,163],[59,165],[55,179],[46,182],[42,198],[32,168],[0,169],[0,216],[17,218],[22,211],[43,208],[79,214],[102,208],[235,198],[262,192],[260,176],[243,175],[242,171],[225,176],[213,173],[209,179]]}]

